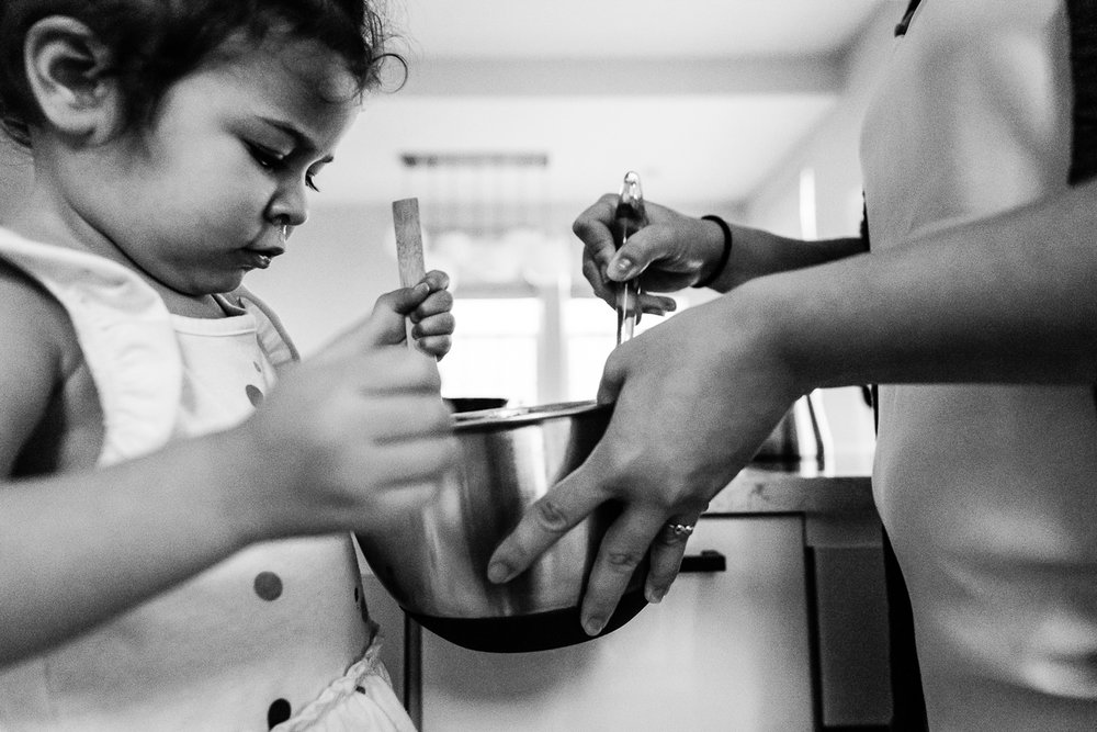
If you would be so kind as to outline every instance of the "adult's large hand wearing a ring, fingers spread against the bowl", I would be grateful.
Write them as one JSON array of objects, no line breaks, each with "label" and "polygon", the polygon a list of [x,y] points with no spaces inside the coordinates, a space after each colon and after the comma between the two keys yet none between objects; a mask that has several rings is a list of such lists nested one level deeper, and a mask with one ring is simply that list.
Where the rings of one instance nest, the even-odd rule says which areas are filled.
[{"label": "adult's large hand wearing a ring, fingers spread against the bowl", "polygon": [[520,574],[599,505],[617,499],[623,510],[591,571],[584,628],[590,634],[602,629],[648,552],[645,595],[661,599],[686,550],[686,538],[667,525],[693,525],[803,393],[781,362],[765,313],[737,306],[739,300],[730,295],[685,311],[610,354],[598,394],[599,402],[614,403],[606,435],[499,545],[488,570],[493,582]]}]

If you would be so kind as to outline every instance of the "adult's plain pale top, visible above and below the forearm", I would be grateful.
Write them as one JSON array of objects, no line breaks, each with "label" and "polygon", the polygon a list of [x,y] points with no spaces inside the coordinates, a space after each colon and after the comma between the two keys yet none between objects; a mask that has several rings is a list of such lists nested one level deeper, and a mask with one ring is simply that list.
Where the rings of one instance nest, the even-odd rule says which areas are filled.
[{"label": "adult's plain pale top, visible above and below the forearm", "polygon": [[[1066,188],[1068,53],[1060,0],[923,0],[866,120],[874,251]],[[930,729],[1097,729],[1094,387],[882,386],[879,414]]]}]

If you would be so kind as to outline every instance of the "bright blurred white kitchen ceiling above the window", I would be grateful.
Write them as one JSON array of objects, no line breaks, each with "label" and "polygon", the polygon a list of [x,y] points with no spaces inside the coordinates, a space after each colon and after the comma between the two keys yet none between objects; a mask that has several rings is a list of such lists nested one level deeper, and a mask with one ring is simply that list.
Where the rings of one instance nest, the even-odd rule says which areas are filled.
[{"label": "bright blurred white kitchen ceiling above the window", "polygon": [[546,158],[538,195],[556,202],[636,170],[655,200],[734,203],[834,108],[866,25],[902,14],[896,0],[391,2],[409,77],[367,101],[318,202],[440,195],[408,153],[517,153]]}]

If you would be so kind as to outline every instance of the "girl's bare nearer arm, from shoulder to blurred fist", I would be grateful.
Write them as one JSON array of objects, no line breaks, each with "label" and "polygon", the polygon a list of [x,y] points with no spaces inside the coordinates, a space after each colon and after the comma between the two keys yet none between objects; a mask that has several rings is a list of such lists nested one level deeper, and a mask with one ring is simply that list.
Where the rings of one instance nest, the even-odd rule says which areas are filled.
[{"label": "girl's bare nearer arm, from shoulder to blurred fist", "polygon": [[[64,336],[57,313],[53,323],[37,313],[20,326],[15,312],[0,313],[0,336],[21,334],[0,354],[0,459],[8,466],[54,390],[64,388],[55,378],[66,375],[67,358],[64,337],[52,335]],[[321,358],[290,368],[237,428],[109,469],[0,484],[0,664],[109,619],[253,541],[377,530],[388,511],[431,495],[456,455],[449,412],[437,370],[407,349],[388,348],[386,338],[386,319],[371,317]],[[77,463],[89,464],[90,453],[81,454]]]}]

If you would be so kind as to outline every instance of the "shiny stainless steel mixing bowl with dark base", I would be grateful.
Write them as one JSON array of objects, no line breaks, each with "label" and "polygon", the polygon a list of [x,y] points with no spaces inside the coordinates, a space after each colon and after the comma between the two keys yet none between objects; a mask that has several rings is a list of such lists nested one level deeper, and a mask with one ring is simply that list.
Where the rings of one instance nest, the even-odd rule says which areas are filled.
[{"label": "shiny stainless steel mixing bowl with dark base", "polygon": [[[406,612],[464,647],[525,652],[588,640],[579,605],[617,506],[602,506],[507,584],[488,582],[487,563],[524,510],[586,460],[609,417],[593,402],[455,414],[460,466],[421,510],[384,536],[359,537],[370,567]],[[642,565],[603,634],[643,609],[645,575]]]}]

